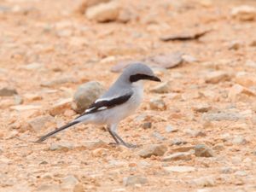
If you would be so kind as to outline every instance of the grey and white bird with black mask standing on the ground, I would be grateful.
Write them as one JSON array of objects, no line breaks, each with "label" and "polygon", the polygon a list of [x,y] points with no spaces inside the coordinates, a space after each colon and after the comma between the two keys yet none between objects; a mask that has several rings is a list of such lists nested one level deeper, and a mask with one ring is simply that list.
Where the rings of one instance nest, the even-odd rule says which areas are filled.
[{"label": "grey and white bird with black mask standing on the ground", "polygon": [[55,131],[51,131],[44,137],[38,139],[37,143],[43,142],[46,138],[55,133],[65,130],[70,126],[85,123],[108,125],[108,132],[113,137],[115,143],[123,144],[127,148],[135,147],[125,143],[117,133],[118,124],[122,119],[131,115],[138,108],[143,99],[142,80],[160,81],[154,75],[150,67],[143,63],[134,63],[126,67],[119,78],[113,83],[105,94],[96,102],[92,103],[88,109],[79,117],[73,119],[67,125],[63,125]]}]

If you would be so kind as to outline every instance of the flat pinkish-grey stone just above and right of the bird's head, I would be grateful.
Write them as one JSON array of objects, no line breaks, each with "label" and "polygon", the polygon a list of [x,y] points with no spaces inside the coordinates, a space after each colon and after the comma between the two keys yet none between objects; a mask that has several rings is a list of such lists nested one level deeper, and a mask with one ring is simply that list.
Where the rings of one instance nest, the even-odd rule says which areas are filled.
[{"label": "flat pinkish-grey stone just above and right of the bird's head", "polygon": [[162,54],[156,55],[149,58],[149,61],[152,61],[158,67],[163,68],[173,68],[183,63],[183,53],[172,53],[172,54]]}]

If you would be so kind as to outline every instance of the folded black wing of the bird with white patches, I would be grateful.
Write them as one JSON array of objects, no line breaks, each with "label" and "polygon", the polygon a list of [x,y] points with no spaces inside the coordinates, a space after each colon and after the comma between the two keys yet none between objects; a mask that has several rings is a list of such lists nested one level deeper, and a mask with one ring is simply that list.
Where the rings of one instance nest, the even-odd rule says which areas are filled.
[{"label": "folded black wing of the bird with white patches", "polygon": [[[127,102],[131,98],[131,96],[132,96],[132,92],[127,93],[124,96],[113,97],[112,99],[106,99],[106,100],[101,99],[98,102],[96,101],[92,103],[90,107],[85,110],[84,113],[79,115],[79,117],[83,116],[84,114],[96,113],[109,108],[114,108],[118,105],[121,105]],[[77,117],[76,119],[78,119],[79,117]]]}]

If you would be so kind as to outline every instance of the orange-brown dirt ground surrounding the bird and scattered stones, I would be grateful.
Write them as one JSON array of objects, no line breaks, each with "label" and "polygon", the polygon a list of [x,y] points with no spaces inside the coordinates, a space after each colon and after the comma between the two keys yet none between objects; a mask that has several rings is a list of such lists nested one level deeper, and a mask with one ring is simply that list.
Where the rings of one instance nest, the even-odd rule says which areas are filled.
[{"label": "orange-brown dirt ground surrounding the bird and scattered stones", "polygon": [[[241,4],[255,7],[255,1],[125,1],[138,16],[126,24],[87,20],[75,11],[80,1],[0,2],[10,9],[0,11],[0,85],[15,87],[22,98],[28,93],[42,96],[37,101],[24,99],[23,102],[42,108],[21,112],[10,108],[15,105],[15,97],[1,97],[1,191],[38,191],[46,183],[58,186],[69,174],[79,179],[85,191],[256,191],[256,100],[253,96],[243,96],[241,100],[230,101],[228,97],[232,85],[237,83],[237,73],[246,72],[250,79],[256,72],[255,67],[246,65],[247,61],[256,61],[256,48],[250,45],[256,40],[256,22],[235,20],[230,16],[230,9]],[[160,41],[162,36],[201,29],[212,29],[212,32],[199,41]],[[234,40],[241,42],[239,49],[229,49]],[[40,131],[28,129],[26,122],[48,114],[51,105],[60,99],[72,97],[79,84],[96,80],[108,87],[119,75],[110,72],[118,61],[175,51],[197,59],[160,74],[163,81],[171,81],[171,93],[175,96],[151,93],[149,89],[155,83],[145,84],[142,106],[119,125],[119,134],[125,141],[141,147],[106,147],[103,154],[80,147],[49,150],[51,143],[81,146],[85,141],[96,139],[112,142],[108,132],[95,125],[78,125],[44,144],[32,143],[76,114],[69,107],[55,116],[55,123],[49,123]],[[22,68],[33,62],[42,64],[43,69]],[[211,70],[231,73],[232,78],[207,84],[205,79]],[[61,78],[75,79],[75,82],[41,85]],[[255,84],[253,86],[255,88]],[[158,96],[166,102],[166,110],[148,108],[150,98]],[[212,113],[233,112],[243,118],[209,122],[204,119],[204,113],[193,109],[201,103],[211,106]],[[142,114],[148,119],[137,119]],[[142,124],[147,121],[151,121],[153,127],[145,130]],[[166,125],[178,131],[167,133]],[[195,137],[188,130],[205,134]],[[153,137],[154,131],[166,140]],[[232,143],[235,136],[247,142]],[[143,159],[137,154],[153,143],[164,143],[171,152],[180,147],[172,145],[175,139],[185,141],[184,146],[205,143],[214,148],[221,144],[224,149],[214,150],[216,155],[212,158],[193,155],[191,160],[170,162],[163,162],[159,157]],[[118,163],[111,163],[113,160]],[[149,166],[142,166],[145,162]],[[165,166],[193,166],[195,172],[166,172]],[[224,167],[231,171],[224,173]],[[147,177],[148,182],[126,187],[123,178],[131,175]],[[211,177],[214,183],[201,186],[194,182],[198,177]]]}]

